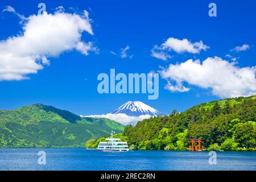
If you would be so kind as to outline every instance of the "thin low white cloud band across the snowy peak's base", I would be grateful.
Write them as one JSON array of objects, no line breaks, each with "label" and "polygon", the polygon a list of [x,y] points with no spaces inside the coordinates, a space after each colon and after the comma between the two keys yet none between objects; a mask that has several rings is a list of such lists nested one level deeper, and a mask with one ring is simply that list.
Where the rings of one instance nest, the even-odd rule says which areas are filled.
[{"label": "thin low white cloud band across the snowy peak's base", "polygon": [[151,118],[151,115],[145,114],[140,115],[138,117],[136,116],[130,116],[126,114],[100,114],[100,115],[81,115],[81,117],[92,117],[92,118],[108,118],[113,121],[122,123],[123,125],[136,125],[138,121],[141,121],[143,119]]}]

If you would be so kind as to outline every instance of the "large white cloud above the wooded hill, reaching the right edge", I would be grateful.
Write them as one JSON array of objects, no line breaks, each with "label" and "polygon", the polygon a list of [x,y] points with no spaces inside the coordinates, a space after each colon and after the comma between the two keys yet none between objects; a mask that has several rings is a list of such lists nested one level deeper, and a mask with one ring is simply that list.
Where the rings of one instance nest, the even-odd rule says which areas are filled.
[{"label": "large white cloud above the wooded hill, reaching the right edge", "polygon": [[[220,57],[208,57],[203,63],[192,59],[180,64],[170,64],[160,75],[168,82],[166,89],[172,92],[187,92],[183,82],[211,89],[212,94],[221,98],[251,96],[256,94],[255,67],[237,67],[236,63]],[[171,82],[176,82],[172,85]]]}]

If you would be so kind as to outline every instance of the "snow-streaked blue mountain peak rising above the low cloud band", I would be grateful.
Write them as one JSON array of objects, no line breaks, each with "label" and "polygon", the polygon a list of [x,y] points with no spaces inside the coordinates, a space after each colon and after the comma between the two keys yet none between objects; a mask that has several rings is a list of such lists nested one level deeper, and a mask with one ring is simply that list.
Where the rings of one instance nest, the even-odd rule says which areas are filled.
[{"label": "snow-streaked blue mountain peak rising above the low cloud band", "polygon": [[139,116],[139,115],[162,115],[158,110],[150,107],[143,102],[140,101],[128,101],[125,104],[118,107],[118,109],[114,110],[112,114],[126,114],[131,116]]}]

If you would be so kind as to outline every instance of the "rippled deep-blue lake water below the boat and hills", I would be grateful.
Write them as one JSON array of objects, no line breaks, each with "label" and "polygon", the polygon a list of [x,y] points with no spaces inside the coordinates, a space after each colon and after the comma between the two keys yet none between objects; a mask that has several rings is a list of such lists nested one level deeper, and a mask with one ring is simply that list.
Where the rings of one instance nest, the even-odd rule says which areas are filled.
[{"label": "rippled deep-blue lake water below the boat and hills", "polygon": [[[38,152],[46,164],[38,164]],[[128,151],[100,152],[85,148],[0,149],[0,170],[256,170],[256,152],[217,152],[209,164],[208,152]]]}]

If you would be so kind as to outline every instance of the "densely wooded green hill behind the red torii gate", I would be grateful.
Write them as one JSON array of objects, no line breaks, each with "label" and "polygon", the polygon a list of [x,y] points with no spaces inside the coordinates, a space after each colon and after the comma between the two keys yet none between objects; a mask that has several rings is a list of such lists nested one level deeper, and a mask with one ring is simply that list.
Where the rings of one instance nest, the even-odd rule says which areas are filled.
[{"label": "densely wooded green hill behind the red torii gate", "polygon": [[128,126],[123,133],[139,150],[188,150],[189,138],[208,150],[256,150],[256,96],[200,104]]}]

